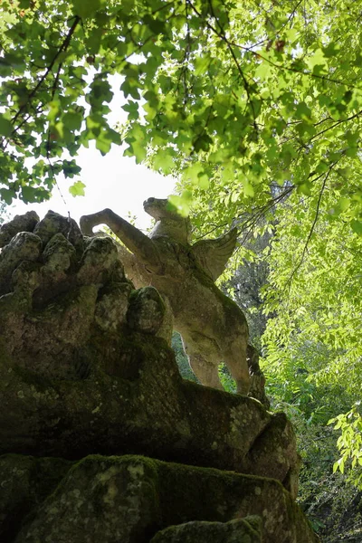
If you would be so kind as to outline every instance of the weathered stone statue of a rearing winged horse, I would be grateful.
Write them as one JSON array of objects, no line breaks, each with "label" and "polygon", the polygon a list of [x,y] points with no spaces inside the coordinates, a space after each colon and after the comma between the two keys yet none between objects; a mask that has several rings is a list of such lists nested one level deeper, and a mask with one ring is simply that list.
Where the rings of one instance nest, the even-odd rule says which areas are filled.
[{"label": "weathered stone statue of a rearing winged horse", "polygon": [[149,237],[110,209],[81,217],[81,231],[92,235],[93,226],[107,224],[133,253],[121,250],[129,279],[137,287],[153,285],[168,300],[190,366],[203,385],[223,388],[218,364],[224,360],[238,393],[247,394],[246,319],[214,284],[235,247],[236,228],[191,245],[189,219],[170,211],[167,200],[148,198],[144,209],[157,221]]}]

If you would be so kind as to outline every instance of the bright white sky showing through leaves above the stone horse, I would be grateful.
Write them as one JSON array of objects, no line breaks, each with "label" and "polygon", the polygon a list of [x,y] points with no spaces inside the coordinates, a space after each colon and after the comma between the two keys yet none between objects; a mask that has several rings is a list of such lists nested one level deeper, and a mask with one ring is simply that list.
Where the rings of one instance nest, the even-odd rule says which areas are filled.
[{"label": "bright white sky showing through leaves above the stone horse", "polygon": [[[127,113],[121,109],[124,103],[119,92],[121,81],[119,76],[112,76],[110,79],[114,92],[110,103],[111,113],[108,116],[110,126],[127,119]],[[81,148],[79,156],[75,158],[81,167],[81,174],[72,179],[64,179],[62,176],[57,178],[66,205],[58,189],[54,187],[51,200],[43,204],[29,205],[17,200],[7,208],[7,213],[14,216],[34,210],[43,218],[43,215],[52,209],[65,216],[70,212],[71,217],[79,222],[82,214],[91,214],[110,207],[125,219],[129,212],[136,215],[138,228],[144,230],[149,227],[152,219],[144,212],[143,201],[150,196],[166,198],[174,191],[176,180],[173,177],[161,176],[147,167],[137,165],[134,158],[123,157],[123,148],[118,146],[113,145],[110,152],[102,157],[94,142],[90,141],[90,148]],[[78,180],[86,185],[85,196],[73,197],[68,188]]]}]

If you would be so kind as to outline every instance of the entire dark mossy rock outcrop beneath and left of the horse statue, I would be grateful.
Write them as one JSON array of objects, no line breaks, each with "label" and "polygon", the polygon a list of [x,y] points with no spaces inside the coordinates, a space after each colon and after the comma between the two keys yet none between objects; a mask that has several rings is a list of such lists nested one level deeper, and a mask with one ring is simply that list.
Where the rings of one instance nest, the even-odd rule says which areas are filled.
[{"label": "entire dark mossy rock outcrop beneath and left of the horse statue", "polygon": [[181,378],[110,238],[50,212],[2,239],[1,541],[315,541],[285,415]]}]

